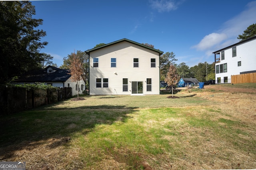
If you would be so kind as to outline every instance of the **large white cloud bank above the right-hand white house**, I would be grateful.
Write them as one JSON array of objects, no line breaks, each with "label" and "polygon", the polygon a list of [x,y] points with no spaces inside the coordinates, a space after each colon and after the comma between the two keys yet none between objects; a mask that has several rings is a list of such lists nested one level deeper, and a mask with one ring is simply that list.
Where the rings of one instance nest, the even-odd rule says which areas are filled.
[{"label": "large white cloud bank above the right-hand white house", "polygon": [[248,26],[256,22],[256,1],[248,3],[246,7],[246,10],[223,23],[221,29],[206,35],[200,43],[192,48],[198,51],[206,51],[208,56],[211,55],[209,51],[213,52],[237,43],[238,35],[241,35]]}]

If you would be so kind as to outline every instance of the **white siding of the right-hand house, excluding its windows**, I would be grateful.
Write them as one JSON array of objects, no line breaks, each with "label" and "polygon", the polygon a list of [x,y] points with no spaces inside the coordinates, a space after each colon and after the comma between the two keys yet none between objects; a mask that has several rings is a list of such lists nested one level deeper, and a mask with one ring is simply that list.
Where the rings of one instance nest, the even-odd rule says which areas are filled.
[{"label": "white siding of the right-hand house, excluding its windows", "polygon": [[[216,83],[217,78],[221,78],[221,83],[224,83],[224,77],[228,77],[228,83],[231,83],[231,75],[240,74],[240,72],[256,70],[256,39],[239,44],[236,47],[236,57],[232,57],[232,47],[225,50],[225,59],[220,60],[220,63],[227,63],[227,72],[215,74]],[[221,53],[220,53],[221,59]],[[238,61],[241,61],[241,66],[238,66]]]}]

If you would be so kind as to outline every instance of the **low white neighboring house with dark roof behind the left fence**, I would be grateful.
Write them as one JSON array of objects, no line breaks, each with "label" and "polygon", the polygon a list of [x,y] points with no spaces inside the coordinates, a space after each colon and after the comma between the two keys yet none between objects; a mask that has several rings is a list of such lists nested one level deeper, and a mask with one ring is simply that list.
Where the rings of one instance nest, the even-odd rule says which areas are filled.
[{"label": "low white neighboring house with dark roof behind the left fence", "polygon": [[61,69],[54,66],[47,66],[41,70],[34,70],[32,72],[27,72],[20,76],[18,80],[15,82],[17,84],[34,84],[36,82],[50,84],[54,87],[71,87],[72,88],[72,96],[77,94],[77,90],[79,90],[79,94],[82,94],[85,90],[84,80],[80,80],[78,84],[76,82],[72,82],[71,75],[69,74],[70,70]]}]

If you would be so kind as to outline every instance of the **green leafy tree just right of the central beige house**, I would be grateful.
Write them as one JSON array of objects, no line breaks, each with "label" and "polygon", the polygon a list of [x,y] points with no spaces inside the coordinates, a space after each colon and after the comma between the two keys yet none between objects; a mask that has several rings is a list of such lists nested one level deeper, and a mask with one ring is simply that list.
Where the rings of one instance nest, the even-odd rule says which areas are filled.
[{"label": "green leafy tree just right of the central beige house", "polygon": [[175,54],[166,52],[160,56],[160,79],[164,80],[171,64],[175,64]]}]

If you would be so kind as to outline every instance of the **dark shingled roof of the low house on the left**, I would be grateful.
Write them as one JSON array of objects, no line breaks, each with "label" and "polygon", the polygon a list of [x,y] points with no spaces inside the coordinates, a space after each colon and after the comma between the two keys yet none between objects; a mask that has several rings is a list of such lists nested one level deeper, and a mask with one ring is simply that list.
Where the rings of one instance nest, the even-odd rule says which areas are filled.
[{"label": "dark shingled roof of the low house on the left", "polygon": [[[47,72],[47,68],[52,67],[55,72]],[[65,82],[71,77],[70,70],[48,66],[45,69],[34,70],[23,74],[16,82]]]}]

